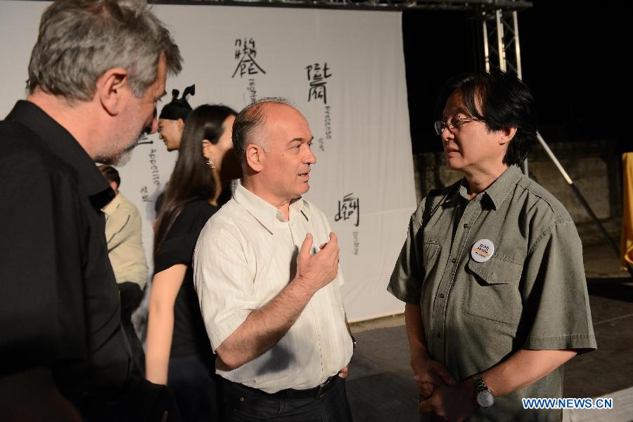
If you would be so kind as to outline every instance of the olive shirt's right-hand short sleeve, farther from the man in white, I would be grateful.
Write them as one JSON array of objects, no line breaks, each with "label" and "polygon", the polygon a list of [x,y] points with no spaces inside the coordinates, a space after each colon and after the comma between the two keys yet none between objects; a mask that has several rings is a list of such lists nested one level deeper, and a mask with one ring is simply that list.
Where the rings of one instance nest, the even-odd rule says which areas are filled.
[{"label": "olive shirt's right-hand short sleeve, farther from the man in white", "polygon": [[596,349],[582,243],[570,219],[547,229],[524,264],[525,349],[587,352]]}]

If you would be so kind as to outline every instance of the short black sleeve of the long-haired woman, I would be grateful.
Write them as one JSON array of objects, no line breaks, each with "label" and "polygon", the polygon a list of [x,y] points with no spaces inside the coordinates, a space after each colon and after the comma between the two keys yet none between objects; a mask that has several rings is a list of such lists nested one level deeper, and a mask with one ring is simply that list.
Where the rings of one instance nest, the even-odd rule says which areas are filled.
[{"label": "short black sleeve of the long-haired woman", "polygon": [[154,257],[154,274],[175,264],[191,264],[200,230],[215,210],[215,207],[203,201],[184,207]]}]

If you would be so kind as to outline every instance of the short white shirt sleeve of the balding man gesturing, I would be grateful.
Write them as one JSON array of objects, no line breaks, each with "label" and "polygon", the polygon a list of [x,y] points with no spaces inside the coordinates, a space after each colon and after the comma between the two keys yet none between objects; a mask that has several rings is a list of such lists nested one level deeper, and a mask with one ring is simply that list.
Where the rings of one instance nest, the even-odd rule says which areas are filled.
[{"label": "short white shirt sleeve of the balding man gesturing", "polygon": [[212,223],[205,226],[196,246],[193,285],[215,352],[257,309],[257,303],[252,291],[255,271],[248,266],[241,242],[236,234]]}]

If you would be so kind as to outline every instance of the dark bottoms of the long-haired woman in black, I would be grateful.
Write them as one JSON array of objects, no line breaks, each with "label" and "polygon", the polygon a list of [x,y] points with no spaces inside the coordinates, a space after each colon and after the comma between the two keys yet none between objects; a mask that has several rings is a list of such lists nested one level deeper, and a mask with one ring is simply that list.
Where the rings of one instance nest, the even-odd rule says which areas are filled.
[{"label": "dark bottoms of the long-haired woman in black", "polygon": [[216,422],[219,418],[219,376],[212,362],[198,355],[172,357],[167,386],[174,392],[183,422]]}]

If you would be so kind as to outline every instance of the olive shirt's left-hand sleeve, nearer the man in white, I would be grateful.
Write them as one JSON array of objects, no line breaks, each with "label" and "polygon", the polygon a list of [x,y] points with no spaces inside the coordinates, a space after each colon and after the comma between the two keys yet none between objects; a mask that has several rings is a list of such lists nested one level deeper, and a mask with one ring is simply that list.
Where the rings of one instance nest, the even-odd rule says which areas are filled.
[{"label": "olive shirt's left-hand sleeve, nearer the man in white", "polygon": [[419,304],[421,298],[423,272],[419,257],[423,248],[421,221],[424,213],[423,200],[409,219],[407,240],[402,245],[387,290],[402,302]]}]

